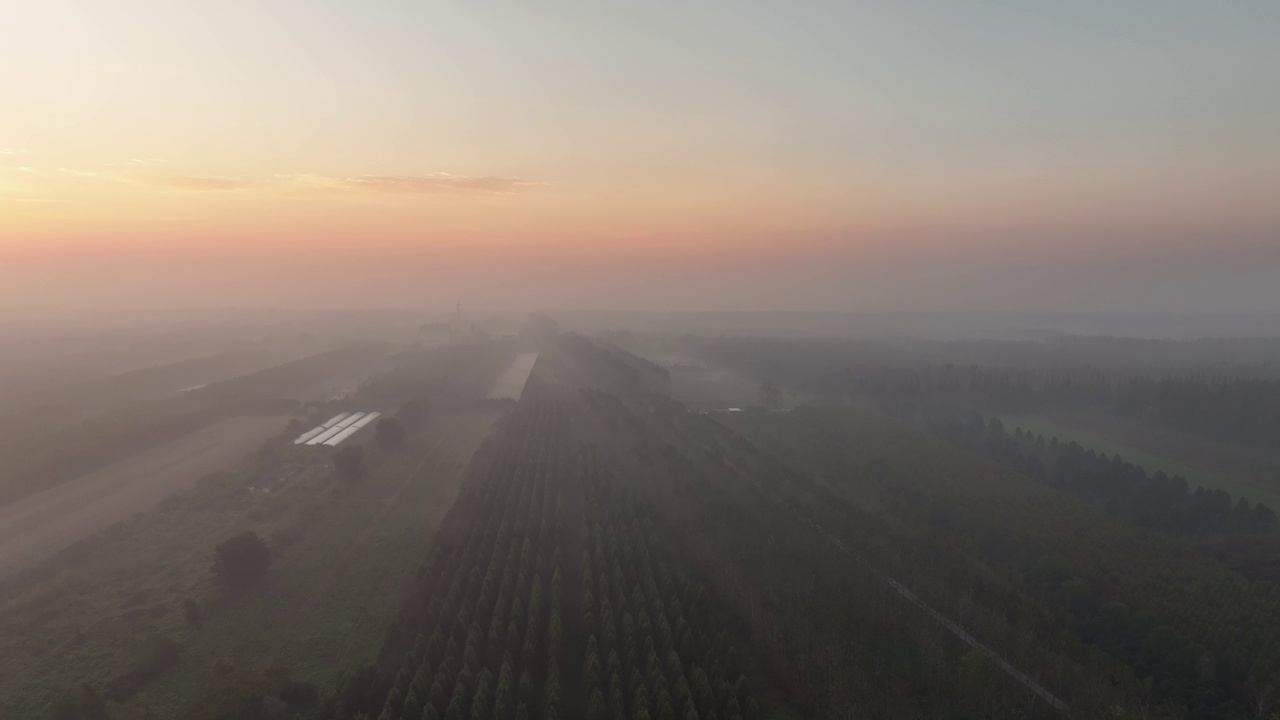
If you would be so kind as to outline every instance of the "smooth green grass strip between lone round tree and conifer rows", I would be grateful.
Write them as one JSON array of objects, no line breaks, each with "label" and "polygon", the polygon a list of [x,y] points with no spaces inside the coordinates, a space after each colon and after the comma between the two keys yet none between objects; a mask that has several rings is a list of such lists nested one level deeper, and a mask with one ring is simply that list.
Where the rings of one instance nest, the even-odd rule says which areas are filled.
[{"label": "smooth green grass strip between lone round tree and conifer rows", "polygon": [[182,665],[138,702],[179,707],[219,657],[246,667],[283,665],[317,684],[371,661],[497,416],[435,418],[419,447],[278,525],[268,541],[279,551],[266,580],[189,633]]}]

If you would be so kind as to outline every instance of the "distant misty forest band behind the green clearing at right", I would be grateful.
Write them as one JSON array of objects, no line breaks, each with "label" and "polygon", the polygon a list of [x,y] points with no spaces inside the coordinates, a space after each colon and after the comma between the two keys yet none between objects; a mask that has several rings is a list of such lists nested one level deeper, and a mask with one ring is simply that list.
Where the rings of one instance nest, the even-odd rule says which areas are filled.
[{"label": "distant misty forest band behind the green clearing at right", "polygon": [[[1243,341],[1242,341],[1243,342]],[[1018,414],[1112,413],[1271,448],[1280,437],[1274,341],[1170,343],[1129,338],[924,342],[686,338],[691,351],[827,400],[947,400]],[[1238,356],[1238,360],[1226,360]]]}]

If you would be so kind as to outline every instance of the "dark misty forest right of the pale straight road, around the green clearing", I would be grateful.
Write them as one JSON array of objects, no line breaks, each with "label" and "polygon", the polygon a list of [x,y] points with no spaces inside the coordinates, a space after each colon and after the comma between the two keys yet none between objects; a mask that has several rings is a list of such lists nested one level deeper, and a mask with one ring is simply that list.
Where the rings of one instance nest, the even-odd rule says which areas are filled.
[{"label": "dark misty forest right of the pale straight road, around the green clearing", "polygon": [[[778,473],[817,480],[828,507],[874,516],[883,537],[859,547],[892,548],[886,573],[975,618],[1014,665],[1060,653],[1033,675],[1073,714],[1102,694],[1148,716],[1275,712],[1274,507],[1001,419],[1087,409],[1245,454],[1274,421],[1268,365],[1037,365],[1034,343],[684,342],[788,388],[799,406],[767,410],[762,383],[760,407],[726,423]],[[978,357],[989,364],[961,364]]]}]

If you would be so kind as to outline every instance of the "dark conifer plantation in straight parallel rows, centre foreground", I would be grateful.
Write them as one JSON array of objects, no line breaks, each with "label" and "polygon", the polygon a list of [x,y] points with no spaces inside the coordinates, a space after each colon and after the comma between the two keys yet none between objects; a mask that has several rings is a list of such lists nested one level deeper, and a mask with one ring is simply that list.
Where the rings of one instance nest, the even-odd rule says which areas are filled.
[{"label": "dark conifer plantation in straight parallel rows, centre foreground", "polygon": [[707,592],[599,451],[573,448],[571,411],[530,402],[504,419],[384,655],[404,650],[348,678],[328,717],[758,717]]}]

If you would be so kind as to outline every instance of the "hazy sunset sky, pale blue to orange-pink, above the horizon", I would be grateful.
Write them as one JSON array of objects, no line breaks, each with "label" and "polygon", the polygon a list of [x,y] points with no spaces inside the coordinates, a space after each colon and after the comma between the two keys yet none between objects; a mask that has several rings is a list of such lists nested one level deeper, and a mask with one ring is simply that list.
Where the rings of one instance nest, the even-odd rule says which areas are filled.
[{"label": "hazy sunset sky, pale blue to orange-pink, above the horizon", "polygon": [[1280,311],[1274,0],[42,0],[0,307]]}]

